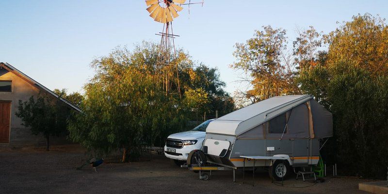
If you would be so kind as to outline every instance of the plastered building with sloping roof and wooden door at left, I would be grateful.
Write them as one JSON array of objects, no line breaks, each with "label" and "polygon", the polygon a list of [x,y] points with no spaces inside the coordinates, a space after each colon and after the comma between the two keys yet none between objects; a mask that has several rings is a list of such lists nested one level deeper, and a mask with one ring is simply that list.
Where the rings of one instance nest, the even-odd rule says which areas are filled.
[{"label": "plastered building with sloping roof and wooden door at left", "polygon": [[[0,63],[0,144],[19,146],[45,143],[43,135],[33,135],[30,129],[21,125],[21,119],[15,115],[19,100],[26,101],[31,96],[38,96],[39,93],[55,98],[59,97],[12,65]],[[69,108],[81,112],[77,106],[63,98],[60,99]],[[65,137],[52,137],[50,139],[53,144],[65,141]]]}]

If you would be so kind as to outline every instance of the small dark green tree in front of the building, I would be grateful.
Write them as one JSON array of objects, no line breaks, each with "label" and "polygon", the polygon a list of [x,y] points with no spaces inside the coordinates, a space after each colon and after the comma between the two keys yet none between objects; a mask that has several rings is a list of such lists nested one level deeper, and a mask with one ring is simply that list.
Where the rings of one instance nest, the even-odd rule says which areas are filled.
[{"label": "small dark green tree in front of the building", "polygon": [[32,96],[28,101],[19,100],[16,116],[21,118],[22,125],[30,128],[32,134],[43,134],[46,138],[46,151],[49,151],[49,137],[66,131],[66,119],[70,110],[59,98]]}]

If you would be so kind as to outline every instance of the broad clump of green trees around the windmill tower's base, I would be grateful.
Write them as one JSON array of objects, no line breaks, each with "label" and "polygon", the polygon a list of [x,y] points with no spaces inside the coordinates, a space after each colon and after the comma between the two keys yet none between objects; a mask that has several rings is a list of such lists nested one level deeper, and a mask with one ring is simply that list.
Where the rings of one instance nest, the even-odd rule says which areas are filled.
[{"label": "broad clump of green trees around the windmill tower's base", "polygon": [[186,121],[233,110],[217,69],[196,65],[183,50],[176,59],[181,95],[174,84],[166,94],[155,74],[157,49],[148,42],[132,51],[118,47],[92,63],[96,74],[84,87],[83,114],[69,121],[73,141],[101,155],[120,149],[122,162],[136,160],[144,146],[163,145]]}]

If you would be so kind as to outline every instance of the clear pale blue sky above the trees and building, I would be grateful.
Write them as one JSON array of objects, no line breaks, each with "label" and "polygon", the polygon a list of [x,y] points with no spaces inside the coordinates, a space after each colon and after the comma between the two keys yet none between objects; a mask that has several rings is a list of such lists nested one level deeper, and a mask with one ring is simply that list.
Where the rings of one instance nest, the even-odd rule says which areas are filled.
[{"label": "clear pale blue sky above the trees and building", "polygon": [[[188,0],[186,0],[188,1]],[[191,0],[202,2],[201,0]],[[117,46],[160,41],[162,24],[153,21],[144,0],[0,0],[0,62],[6,62],[49,89],[83,93],[93,77],[93,59]],[[236,43],[271,25],[283,28],[292,42],[296,29],[314,26],[324,33],[337,21],[357,14],[388,18],[388,1],[377,0],[205,0],[187,6],[173,22],[176,46],[194,60],[217,67],[226,91],[241,87]]]}]

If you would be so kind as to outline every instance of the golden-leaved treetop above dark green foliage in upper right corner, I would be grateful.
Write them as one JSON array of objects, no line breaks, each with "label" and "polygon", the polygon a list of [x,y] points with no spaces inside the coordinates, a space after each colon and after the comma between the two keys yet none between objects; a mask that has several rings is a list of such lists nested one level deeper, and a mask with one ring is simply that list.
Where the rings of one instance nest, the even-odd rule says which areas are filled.
[{"label": "golden-leaved treetop above dark green foliage in upper right corner", "polygon": [[335,31],[325,35],[328,60],[349,61],[374,75],[388,73],[388,27],[385,19],[371,14],[353,16]]}]

